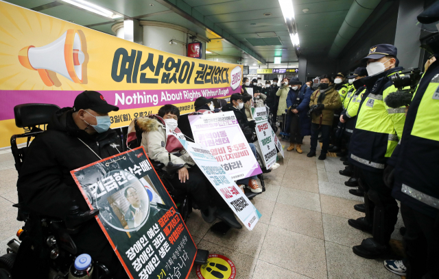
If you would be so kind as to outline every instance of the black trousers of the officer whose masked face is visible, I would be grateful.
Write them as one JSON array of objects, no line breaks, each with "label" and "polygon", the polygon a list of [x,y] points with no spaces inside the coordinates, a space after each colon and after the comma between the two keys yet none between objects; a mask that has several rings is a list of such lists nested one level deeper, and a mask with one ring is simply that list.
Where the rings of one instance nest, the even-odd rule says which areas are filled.
[{"label": "black trousers of the officer whose masked face is visible", "polygon": [[[373,238],[381,245],[387,245],[398,220],[398,203],[384,183],[383,172],[361,170],[361,180],[368,196],[366,219],[373,220]],[[373,217],[368,216],[372,213]]]}]

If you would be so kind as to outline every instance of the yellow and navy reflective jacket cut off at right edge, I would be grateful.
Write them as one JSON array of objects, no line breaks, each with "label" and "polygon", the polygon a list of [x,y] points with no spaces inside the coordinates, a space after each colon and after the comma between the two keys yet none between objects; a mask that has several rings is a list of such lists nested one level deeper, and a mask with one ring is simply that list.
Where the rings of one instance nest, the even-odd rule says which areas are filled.
[{"label": "yellow and navy reflective jacket cut off at right edge", "polygon": [[[439,60],[439,57],[436,57]],[[431,217],[439,213],[439,63],[429,66],[407,111],[392,161],[392,196]]]}]

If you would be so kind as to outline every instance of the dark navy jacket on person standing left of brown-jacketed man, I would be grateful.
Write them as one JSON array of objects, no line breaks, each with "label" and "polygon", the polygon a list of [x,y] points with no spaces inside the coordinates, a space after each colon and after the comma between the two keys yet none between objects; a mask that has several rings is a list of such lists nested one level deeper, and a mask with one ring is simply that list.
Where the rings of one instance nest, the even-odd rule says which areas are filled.
[{"label": "dark navy jacket on person standing left of brown-jacketed man", "polygon": [[299,111],[300,133],[303,136],[311,135],[311,118],[307,116],[307,113],[309,111],[309,101],[311,100],[312,94],[313,90],[304,84],[299,90],[295,91],[290,89],[287,96],[288,110],[292,109],[292,105],[294,105],[295,101],[299,103],[296,109]]}]

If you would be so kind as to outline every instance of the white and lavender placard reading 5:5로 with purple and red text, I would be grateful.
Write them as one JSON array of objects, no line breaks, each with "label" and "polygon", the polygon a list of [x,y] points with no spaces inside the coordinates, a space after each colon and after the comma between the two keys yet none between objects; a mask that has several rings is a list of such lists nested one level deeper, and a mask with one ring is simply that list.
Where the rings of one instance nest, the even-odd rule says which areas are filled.
[{"label": "white and lavender placard reading 5:5\ub85c with purple and red text", "polygon": [[234,181],[262,173],[233,111],[189,116],[189,122],[195,142],[209,149]]}]

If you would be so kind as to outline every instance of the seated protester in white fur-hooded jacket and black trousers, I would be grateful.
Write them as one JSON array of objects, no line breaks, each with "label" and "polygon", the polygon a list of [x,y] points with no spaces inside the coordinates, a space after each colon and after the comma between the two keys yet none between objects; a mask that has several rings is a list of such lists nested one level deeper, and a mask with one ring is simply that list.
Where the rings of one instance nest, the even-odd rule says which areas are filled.
[{"label": "seated protester in white fur-hooded jacket and black trousers", "polygon": [[178,175],[174,175],[170,181],[176,191],[191,195],[204,221],[211,223],[215,221],[215,217],[218,217],[233,228],[242,228],[233,215],[233,211],[195,165],[178,139],[174,135],[167,136],[167,128],[178,131],[179,116],[178,107],[164,105],[158,110],[156,116],[137,118],[137,124],[143,131],[142,146],[145,152],[150,159],[160,161],[165,165],[169,162],[169,156],[174,165],[184,165],[178,170]]}]

